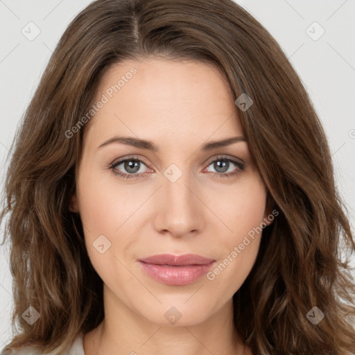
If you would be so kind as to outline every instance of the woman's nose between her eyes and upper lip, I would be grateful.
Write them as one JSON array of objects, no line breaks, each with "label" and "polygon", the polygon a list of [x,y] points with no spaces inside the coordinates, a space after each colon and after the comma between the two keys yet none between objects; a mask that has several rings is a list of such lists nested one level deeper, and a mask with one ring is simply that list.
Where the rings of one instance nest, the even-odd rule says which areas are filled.
[{"label": "woman's nose between her eyes and upper lip", "polygon": [[162,187],[155,194],[153,226],[157,232],[182,238],[202,231],[205,225],[204,213],[208,209],[188,175],[183,173],[175,182],[168,178],[162,180]]}]

